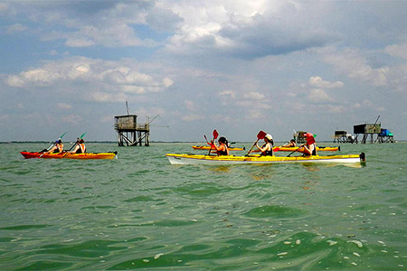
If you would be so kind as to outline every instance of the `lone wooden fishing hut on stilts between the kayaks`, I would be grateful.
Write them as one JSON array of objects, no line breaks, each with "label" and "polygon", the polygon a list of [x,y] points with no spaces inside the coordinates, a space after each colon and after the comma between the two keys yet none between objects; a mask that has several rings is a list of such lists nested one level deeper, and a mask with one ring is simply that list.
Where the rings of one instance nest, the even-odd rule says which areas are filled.
[{"label": "lone wooden fishing hut on stilts between the kayaks", "polygon": [[137,124],[137,115],[115,117],[115,130],[118,132],[118,145],[150,145],[150,125]]}]

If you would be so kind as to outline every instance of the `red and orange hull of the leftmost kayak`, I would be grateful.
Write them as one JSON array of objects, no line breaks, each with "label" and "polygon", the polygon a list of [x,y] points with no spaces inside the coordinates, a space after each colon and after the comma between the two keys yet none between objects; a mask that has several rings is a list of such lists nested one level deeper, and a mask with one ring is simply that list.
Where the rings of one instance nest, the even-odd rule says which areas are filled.
[{"label": "red and orange hull of the leftmost kayak", "polygon": [[115,158],[117,152],[109,153],[85,153],[85,154],[71,154],[71,153],[61,153],[61,154],[44,154],[36,152],[21,152],[21,154],[26,159],[30,158],[43,158],[43,159],[113,159]]}]

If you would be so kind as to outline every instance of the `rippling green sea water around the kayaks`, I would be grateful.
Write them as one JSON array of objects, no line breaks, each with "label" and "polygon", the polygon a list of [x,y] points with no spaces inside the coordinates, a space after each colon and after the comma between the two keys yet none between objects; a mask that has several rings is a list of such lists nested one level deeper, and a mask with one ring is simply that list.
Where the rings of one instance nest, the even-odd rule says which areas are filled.
[{"label": "rippling green sea water around the kayaks", "polygon": [[358,168],[169,164],[191,145],[88,144],[118,151],[104,161],[0,145],[0,269],[407,269],[406,143],[341,145]]}]

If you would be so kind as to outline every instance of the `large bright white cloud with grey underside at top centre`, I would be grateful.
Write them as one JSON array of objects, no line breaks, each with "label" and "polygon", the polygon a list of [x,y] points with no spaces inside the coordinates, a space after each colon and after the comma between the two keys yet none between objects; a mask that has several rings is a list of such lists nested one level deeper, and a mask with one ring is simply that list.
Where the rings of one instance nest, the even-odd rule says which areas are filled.
[{"label": "large bright white cloud with grey underside at top centre", "polygon": [[[325,5],[325,4],[320,4]],[[332,40],[295,1],[180,1],[168,5],[184,22],[166,49],[179,54],[220,53],[257,58],[302,51]],[[314,27],[311,27],[314,26]]]}]

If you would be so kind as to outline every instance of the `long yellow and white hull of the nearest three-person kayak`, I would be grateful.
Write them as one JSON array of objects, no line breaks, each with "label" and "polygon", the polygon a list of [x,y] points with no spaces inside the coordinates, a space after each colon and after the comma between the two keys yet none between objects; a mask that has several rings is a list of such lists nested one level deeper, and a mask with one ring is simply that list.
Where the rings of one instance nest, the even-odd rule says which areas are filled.
[{"label": "long yellow and white hull of the nearest three-person kayak", "polygon": [[200,154],[166,154],[171,164],[279,164],[279,163],[330,163],[361,164],[364,153],[347,155],[313,155],[313,156],[235,156],[235,155],[200,155]]}]

